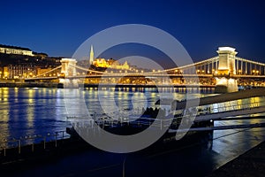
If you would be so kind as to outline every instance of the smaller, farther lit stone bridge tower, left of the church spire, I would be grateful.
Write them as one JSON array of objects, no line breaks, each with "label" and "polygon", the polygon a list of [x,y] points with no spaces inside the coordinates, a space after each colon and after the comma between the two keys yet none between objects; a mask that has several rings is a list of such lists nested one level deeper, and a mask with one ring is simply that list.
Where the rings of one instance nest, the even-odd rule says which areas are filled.
[{"label": "smaller, farther lit stone bridge tower, left of the church spire", "polygon": [[64,88],[78,88],[78,79],[69,78],[76,76],[76,59],[73,58],[62,58],[61,64],[61,75],[60,83],[64,85]]}]

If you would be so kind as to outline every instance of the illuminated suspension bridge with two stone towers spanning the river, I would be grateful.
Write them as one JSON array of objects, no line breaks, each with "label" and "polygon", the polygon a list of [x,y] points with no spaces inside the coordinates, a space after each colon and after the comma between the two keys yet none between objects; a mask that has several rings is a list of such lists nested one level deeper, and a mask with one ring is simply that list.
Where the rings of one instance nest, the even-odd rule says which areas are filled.
[{"label": "illuminated suspension bridge with two stone towers spanning the river", "polygon": [[[190,65],[182,65],[152,72],[138,70],[97,71],[89,65],[77,65],[73,58],[62,58],[61,65],[25,81],[53,81],[78,84],[144,84],[144,85],[212,85],[226,86],[265,86],[265,64],[254,60],[236,57],[235,49],[220,47],[218,56]],[[199,79],[199,81],[196,81]]]}]

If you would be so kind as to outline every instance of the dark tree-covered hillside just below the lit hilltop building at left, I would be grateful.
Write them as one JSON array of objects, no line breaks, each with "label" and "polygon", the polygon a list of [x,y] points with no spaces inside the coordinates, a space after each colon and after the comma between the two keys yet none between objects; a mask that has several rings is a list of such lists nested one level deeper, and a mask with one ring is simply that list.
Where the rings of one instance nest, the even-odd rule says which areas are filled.
[{"label": "dark tree-covered hillside just below the lit hilltop building at left", "polygon": [[30,66],[57,66],[61,65],[59,60],[61,58],[50,58],[47,54],[36,54],[35,56],[15,55],[0,53],[0,66],[7,65],[30,65]]}]

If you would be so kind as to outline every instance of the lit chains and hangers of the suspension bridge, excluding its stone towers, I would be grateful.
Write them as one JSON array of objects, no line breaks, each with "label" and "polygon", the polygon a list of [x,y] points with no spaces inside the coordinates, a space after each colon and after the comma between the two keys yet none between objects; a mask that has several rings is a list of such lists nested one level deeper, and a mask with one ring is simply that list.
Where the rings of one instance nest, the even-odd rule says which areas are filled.
[{"label": "lit chains and hangers of the suspension bridge, excluding its stone towers", "polygon": [[[255,62],[252,60],[248,60],[245,58],[235,58],[236,60],[236,75],[237,76],[264,76],[265,74],[265,64],[260,62]],[[99,75],[104,75],[105,77],[109,76],[159,76],[159,75],[170,75],[170,76],[178,76],[178,75],[198,75],[200,76],[213,76],[218,71],[219,58],[208,58],[206,60],[190,64],[178,66],[165,70],[152,70],[152,72],[145,72],[144,70],[134,69],[134,70],[105,70],[96,71],[93,69],[89,69],[87,67],[83,67],[80,65],[69,65],[69,67],[75,68],[77,70],[77,77],[98,77]],[[61,75],[60,69],[62,65],[57,66],[45,73],[39,74],[34,78],[29,79],[42,79],[42,78],[56,78]],[[71,77],[71,75],[69,75]],[[235,76],[236,77],[236,76]]]}]

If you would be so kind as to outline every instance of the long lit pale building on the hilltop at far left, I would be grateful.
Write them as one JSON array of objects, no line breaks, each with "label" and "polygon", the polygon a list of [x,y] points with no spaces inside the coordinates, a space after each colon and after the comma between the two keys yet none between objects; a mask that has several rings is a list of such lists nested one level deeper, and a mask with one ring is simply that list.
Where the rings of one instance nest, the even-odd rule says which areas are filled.
[{"label": "long lit pale building on the hilltop at far left", "polygon": [[0,53],[34,56],[33,51],[27,48],[0,44]]}]

